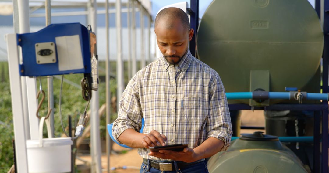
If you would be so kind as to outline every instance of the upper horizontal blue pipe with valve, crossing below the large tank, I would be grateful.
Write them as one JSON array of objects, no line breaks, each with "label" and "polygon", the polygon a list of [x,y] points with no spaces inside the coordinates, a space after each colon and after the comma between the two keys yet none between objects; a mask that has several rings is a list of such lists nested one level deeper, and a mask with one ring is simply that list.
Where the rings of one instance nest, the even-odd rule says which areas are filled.
[{"label": "upper horizontal blue pipe with valve, crossing below the large tank", "polygon": [[[227,99],[253,99],[252,92],[227,92]],[[269,99],[290,99],[290,92],[268,92]],[[307,100],[328,101],[328,94],[307,93]]]}]

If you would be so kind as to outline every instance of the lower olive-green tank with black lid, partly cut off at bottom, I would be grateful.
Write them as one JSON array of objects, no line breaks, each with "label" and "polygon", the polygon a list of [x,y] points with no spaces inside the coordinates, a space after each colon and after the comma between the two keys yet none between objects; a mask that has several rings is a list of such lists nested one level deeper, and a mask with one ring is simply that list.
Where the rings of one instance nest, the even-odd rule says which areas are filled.
[{"label": "lower olive-green tank with black lid, partly cut off at bottom", "polygon": [[219,152],[208,161],[210,173],[307,173],[296,155],[278,138],[262,132],[242,134],[232,141],[227,151]]}]

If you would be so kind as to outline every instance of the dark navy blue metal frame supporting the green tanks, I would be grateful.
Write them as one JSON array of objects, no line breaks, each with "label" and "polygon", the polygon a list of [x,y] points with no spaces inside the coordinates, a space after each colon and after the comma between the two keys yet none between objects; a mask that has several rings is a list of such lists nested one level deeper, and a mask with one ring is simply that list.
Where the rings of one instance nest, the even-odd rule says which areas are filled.
[{"label": "dark navy blue metal frame supporting the green tanks", "polygon": [[[320,17],[320,0],[316,1],[316,12]],[[194,35],[197,35],[198,28],[198,11],[199,11],[199,0],[191,0],[190,8],[196,13],[191,14],[191,28],[194,29]],[[329,77],[329,1],[324,1],[324,23],[323,23],[323,34],[324,34],[324,48],[322,55],[323,62],[323,73],[322,73],[322,93],[328,93],[328,77]],[[195,40],[190,41],[190,51],[196,52],[194,49]],[[195,56],[195,54],[192,53]],[[230,110],[245,110],[252,109],[251,106],[245,104],[234,104],[229,105]],[[323,102],[320,105],[270,105],[266,107],[253,107],[254,109],[263,110],[310,110],[316,111],[314,117],[314,170],[313,172],[318,173],[328,173],[328,147],[329,147],[329,132],[328,132],[328,121],[329,121],[329,111],[328,102]],[[320,123],[322,113],[322,135],[320,133]],[[322,152],[320,152],[320,141],[322,141]],[[326,147],[324,147],[326,146]],[[322,153],[322,154],[321,154]],[[322,164],[321,164],[322,163]]]}]

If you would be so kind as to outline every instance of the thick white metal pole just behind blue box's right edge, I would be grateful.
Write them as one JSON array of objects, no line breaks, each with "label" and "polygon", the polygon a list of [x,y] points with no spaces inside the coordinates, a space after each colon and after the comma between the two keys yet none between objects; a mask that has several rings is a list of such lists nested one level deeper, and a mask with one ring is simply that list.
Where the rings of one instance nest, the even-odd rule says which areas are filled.
[{"label": "thick white metal pole just behind blue box's right edge", "polygon": [[[97,3],[96,0],[89,0],[89,24],[91,25],[92,31],[97,36]],[[97,42],[97,41],[96,41]],[[97,46],[97,44],[96,44]],[[96,48],[97,50],[97,48]],[[101,140],[99,131],[99,94],[98,91],[91,91],[91,116],[90,116],[90,141],[91,141],[91,172],[101,173]]]}]

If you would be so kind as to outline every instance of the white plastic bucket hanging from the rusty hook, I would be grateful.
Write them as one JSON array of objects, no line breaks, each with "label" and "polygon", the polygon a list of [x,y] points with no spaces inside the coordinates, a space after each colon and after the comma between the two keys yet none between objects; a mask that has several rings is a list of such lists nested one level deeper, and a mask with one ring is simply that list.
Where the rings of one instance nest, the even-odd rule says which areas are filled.
[{"label": "white plastic bucket hanging from the rusty hook", "polygon": [[45,117],[39,125],[39,140],[27,140],[27,160],[30,173],[71,172],[71,138],[51,138],[50,124],[46,121],[48,137],[42,138]]}]

